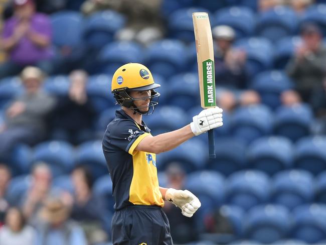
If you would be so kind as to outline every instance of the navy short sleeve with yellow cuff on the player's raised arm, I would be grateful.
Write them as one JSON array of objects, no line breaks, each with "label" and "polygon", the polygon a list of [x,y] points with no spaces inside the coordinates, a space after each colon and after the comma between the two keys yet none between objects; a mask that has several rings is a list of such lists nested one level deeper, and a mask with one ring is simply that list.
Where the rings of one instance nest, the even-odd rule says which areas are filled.
[{"label": "navy short sleeve with yellow cuff on the player's raised arm", "polygon": [[105,135],[106,140],[113,146],[135,155],[135,148],[149,133],[142,131],[131,120],[119,120],[114,126],[109,126]]}]

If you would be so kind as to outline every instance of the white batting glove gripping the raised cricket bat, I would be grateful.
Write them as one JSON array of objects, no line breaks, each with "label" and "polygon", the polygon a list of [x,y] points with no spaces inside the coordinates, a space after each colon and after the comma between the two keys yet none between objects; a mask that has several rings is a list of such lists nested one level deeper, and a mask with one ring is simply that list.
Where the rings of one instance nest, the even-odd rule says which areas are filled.
[{"label": "white batting glove gripping the raised cricket bat", "polygon": [[221,127],[223,125],[222,111],[218,106],[202,110],[193,117],[190,124],[191,131],[198,136],[211,129]]}]

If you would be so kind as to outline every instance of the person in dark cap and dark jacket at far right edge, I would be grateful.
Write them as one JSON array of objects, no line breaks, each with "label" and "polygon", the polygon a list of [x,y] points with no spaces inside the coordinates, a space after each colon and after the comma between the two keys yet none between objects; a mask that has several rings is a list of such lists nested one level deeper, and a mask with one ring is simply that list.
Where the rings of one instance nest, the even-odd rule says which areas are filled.
[{"label": "person in dark cap and dark jacket at far right edge", "polygon": [[286,67],[288,75],[296,83],[296,91],[304,102],[310,102],[312,91],[319,88],[326,70],[326,48],[322,35],[314,24],[305,24],[301,30],[302,45]]}]

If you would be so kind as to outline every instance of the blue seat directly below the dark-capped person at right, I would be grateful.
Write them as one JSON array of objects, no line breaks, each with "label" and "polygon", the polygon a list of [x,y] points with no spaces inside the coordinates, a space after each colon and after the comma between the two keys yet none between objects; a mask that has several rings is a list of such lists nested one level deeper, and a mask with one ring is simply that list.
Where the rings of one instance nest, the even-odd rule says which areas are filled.
[{"label": "blue seat directly below the dark-capped person at right", "polygon": [[273,131],[295,142],[309,135],[312,120],[313,114],[307,104],[280,106],[275,112]]}]

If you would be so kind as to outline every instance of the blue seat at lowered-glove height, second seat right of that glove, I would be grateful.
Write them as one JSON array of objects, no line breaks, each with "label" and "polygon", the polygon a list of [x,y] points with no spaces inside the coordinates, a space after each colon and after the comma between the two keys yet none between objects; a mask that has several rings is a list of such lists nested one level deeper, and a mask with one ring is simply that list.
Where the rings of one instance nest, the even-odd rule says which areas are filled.
[{"label": "blue seat at lowered-glove height, second seat right of that glove", "polygon": [[226,190],[227,203],[248,210],[269,200],[269,178],[258,170],[235,172],[229,176]]}]

